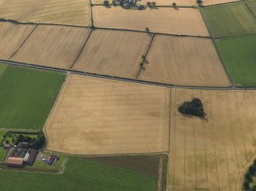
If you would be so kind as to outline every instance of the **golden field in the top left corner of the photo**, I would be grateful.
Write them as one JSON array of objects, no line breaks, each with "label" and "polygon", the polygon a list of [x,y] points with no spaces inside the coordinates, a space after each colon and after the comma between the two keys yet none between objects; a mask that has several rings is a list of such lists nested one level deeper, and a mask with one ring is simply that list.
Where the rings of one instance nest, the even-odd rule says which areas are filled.
[{"label": "golden field in the top left corner of the photo", "polygon": [[0,18],[77,26],[92,24],[89,0],[3,0]]}]

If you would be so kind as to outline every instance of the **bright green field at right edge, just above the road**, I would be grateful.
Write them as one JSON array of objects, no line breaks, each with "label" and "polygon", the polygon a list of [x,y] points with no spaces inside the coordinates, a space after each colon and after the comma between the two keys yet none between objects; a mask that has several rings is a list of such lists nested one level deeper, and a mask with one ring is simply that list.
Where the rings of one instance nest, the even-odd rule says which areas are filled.
[{"label": "bright green field at right edge, just above the road", "polygon": [[216,45],[236,86],[256,87],[256,35],[217,40]]}]

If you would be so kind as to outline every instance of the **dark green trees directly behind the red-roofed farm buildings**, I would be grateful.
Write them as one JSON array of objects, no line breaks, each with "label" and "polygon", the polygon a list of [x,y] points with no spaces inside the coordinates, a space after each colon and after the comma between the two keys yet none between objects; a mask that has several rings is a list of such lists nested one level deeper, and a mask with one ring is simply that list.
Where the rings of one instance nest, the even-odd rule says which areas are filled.
[{"label": "dark green trees directly behind the red-roofed farm buildings", "polygon": [[[4,138],[11,138],[11,142],[14,145],[18,145],[20,142],[28,142],[29,148],[35,148],[39,149],[42,148],[45,144],[46,138],[44,136],[44,132],[39,132],[37,135],[37,138],[32,138],[30,135],[24,135],[24,134],[12,134],[10,132],[7,132],[6,135],[4,135]],[[5,141],[8,143],[8,140]]]}]

